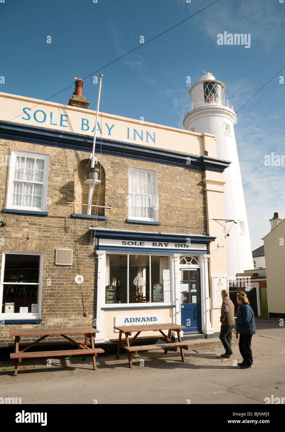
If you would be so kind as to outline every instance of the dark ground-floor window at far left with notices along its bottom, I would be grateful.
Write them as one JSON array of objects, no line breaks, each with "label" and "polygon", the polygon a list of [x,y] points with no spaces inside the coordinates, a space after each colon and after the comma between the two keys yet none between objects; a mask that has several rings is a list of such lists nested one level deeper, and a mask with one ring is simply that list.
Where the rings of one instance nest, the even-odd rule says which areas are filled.
[{"label": "dark ground-floor window at far left with notices along its bottom", "polygon": [[4,254],[3,314],[38,314],[40,255]]}]

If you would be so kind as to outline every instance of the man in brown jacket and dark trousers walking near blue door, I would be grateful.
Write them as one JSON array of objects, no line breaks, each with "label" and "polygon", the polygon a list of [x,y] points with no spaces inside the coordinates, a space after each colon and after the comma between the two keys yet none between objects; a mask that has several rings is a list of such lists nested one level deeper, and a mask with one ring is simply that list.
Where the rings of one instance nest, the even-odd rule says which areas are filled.
[{"label": "man in brown jacket and dark trousers walking near blue door", "polygon": [[235,324],[235,306],[232,300],[229,298],[229,291],[223,289],[222,295],[222,307],[221,307],[221,332],[219,335],[220,340],[225,348],[225,354],[221,357],[224,359],[229,359],[232,355],[232,329]]}]

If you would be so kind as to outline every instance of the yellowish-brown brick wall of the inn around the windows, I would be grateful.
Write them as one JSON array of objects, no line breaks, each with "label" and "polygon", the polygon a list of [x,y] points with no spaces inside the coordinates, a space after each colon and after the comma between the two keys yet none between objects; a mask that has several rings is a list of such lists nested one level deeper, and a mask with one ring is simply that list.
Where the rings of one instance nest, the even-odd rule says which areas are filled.
[{"label": "yellowish-brown brick wall of the inn around the windows", "polygon": [[[0,227],[0,264],[3,251],[43,252],[41,324],[7,324],[0,326],[0,344],[11,343],[9,332],[22,327],[75,327],[91,326],[96,317],[96,254],[88,227],[92,220],[72,219],[72,213],[86,213],[87,206],[68,205],[69,202],[87,203],[88,189],[82,181],[87,175],[90,154],[37,144],[0,140],[0,156],[11,154],[12,149],[42,152],[50,155],[48,200],[46,217],[21,216],[1,213],[7,225]],[[109,229],[160,231],[184,234],[204,234],[207,231],[206,203],[203,172],[135,159],[97,155],[101,170],[99,187],[95,188],[93,202],[112,206],[100,209],[94,225]],[[128,219],[128,167],[155,169],[158,172],[161,225],[141,225],[125,222]],[[9,166],[0,165],[0,205],[6,208],[6,181]],[[105,197],[105,199],[104,199]],[[98,199],[98,201],[97,201]],[[29,240],[27,240],[29,235]],[[3,243],[3,241],[2,241]],[[55,266],[55,249],[73,250],[72,266]],[[84,276],[81,285],[75,276]],[[47,279],[50,285],[47,285]],[[84,316],[85,310],[88,316]],[[25,340],[25,338],[23,338]],[[30,340],[30,338],[26,338]],[[58,338],[61,340],[60,338]],[[48,340],[48,339],[47,339]],[[53,338],[56,340],[56,338]]]}]

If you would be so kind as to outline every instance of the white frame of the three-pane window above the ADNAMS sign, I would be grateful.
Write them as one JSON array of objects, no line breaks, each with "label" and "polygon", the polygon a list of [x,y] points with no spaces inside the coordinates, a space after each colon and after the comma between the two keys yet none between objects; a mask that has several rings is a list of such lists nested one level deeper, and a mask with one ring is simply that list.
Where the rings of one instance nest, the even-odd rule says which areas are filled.
[{"label": "white frame of the three-pane window above the ADNAMS sign", "polygon": [[[104,293],[104,300],[103,300],[103,308],[105,309],[112,309],[112,308],[116,308],[116,309],[124,309],[126,307],[135,307],[135,308],[150,308],[153,306],[157,306],[157,307],[161,307],[161,306],[172,306],[175,305],[174,302],[174,286],[175,286],[175,282],[173,282],[173,273],[172,273],[172,263],[171,263],[171,254],[142,254],[140,252],[113,252],[113,251],[108,251],[106,252],[106,256],[107,255],[125,255],[127,256],[127,281],[128,281],[128,286],[127,286],[127,300],[128,303],[113,303],[113,304],[106,304],[105,303],[105,293]],[[151,287],[151,257],[152,256],[160,256],[160,257],[169,257],[169,265],[170,265],[170,302],[149,302],[149,303],[130,303],[129,302],[129,256],[130,255],[144,255],[149,257],[149,266],[150,266],[150,275],[149,275],[149,284]],[[106,273],[106,266],[105,266],[105,273]],[[104,274],[104,278],[105,278],[105,274]],[[150,288],[150,299],[151,299],[151,295],[152,295],[152,288]]]}]

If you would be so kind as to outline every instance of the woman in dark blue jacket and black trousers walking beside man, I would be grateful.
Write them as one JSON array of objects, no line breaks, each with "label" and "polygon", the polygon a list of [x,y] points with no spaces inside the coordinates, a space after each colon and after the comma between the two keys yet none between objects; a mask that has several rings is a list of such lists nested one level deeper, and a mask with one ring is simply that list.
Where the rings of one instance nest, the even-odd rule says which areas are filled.
[{"label": "woman in dark blue jacket and black trousers walking beside man", "polygon": [[239,333],[239,352],[243,358],[242,363],[238,363],[241,369],[251,368],[253,364],[251,351],[251,338],[255,334],[254,311],[249,305],[245,292],[238,292],[238,318],[237,332]]}]

